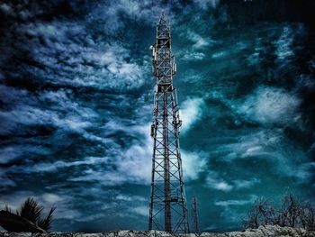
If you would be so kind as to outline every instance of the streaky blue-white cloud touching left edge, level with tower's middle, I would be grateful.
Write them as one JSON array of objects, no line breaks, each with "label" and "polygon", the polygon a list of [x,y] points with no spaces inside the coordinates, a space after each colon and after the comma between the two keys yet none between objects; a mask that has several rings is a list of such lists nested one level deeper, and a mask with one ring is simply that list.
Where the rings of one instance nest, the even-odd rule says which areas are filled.
[{"label": "streaky blue-white cloud touching left edge, level with tower's middle", "polygon": [[[43,91],[38,97],[25,93],[19,97],[25,105],[17,104],[10,111],[0,111],[3,121],[1,133],[14,132],[17,128],[21,129],[22,125],[53,125],[67,131],[84,132],[83,129],[91,126],[90,122],[97,117],[90,108],[73,102],[63,89]],[[51,105],[41,108],[42,103]]]}]

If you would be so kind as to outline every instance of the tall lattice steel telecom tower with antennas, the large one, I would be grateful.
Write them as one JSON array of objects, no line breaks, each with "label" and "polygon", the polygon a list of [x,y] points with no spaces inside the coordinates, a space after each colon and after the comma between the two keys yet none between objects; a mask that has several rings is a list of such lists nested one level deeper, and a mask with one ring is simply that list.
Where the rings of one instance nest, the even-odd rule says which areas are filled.
[{"label": "tall lattice steel telecom tower with antennas, the large one", "polygon": [[153,157],[148,229],[187,233],[187,205],[178,141],[182,121],[173,87],[176,65],[171,51],[171,30],[164,13],[157,23],[157,42],[150,50],[156,87],[151,126]]}]

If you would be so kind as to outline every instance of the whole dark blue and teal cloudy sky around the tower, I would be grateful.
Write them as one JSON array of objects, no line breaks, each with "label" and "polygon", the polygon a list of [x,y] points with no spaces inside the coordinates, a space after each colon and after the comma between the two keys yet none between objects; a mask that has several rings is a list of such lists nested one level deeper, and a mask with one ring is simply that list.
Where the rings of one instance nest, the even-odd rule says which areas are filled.
[{"label": "whole dark blue and teal cloudy sky around the tower", "polygon": [[57,206],[52,231],[147,230],[149,46],[162,11],[202,232],[241,229],[257,198],[315,203],[314,10],[313,0],[1,1],[0,207],[33,196]]}]

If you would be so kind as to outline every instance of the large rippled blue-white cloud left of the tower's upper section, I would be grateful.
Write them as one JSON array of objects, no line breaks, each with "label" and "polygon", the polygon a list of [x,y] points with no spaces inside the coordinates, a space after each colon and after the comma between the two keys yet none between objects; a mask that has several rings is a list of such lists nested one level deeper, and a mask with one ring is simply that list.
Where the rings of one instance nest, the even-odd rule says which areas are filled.
[{"label": "large rippled blue-white cloud left of the tower's upper section", "polygon": [[[107,14],[110,12],[106,11]],[[106,22],[112,20],[111,17],[105,18]],[[93,39],[85,33],[84,23],[57,20],[27,23],[19,31],[32,36],[30,43],[33,44],[34,60],[46,68],[54,68],[49,74],[40,68],[28,69],[54,85],[126,91],[141,87],[145,82],[144,75],[149,68],[146,57],[131,58],[130,50],[120,41]],[[77,37],[81,40],[74,41]],[[39,43],[39,39],[45,43]],[[58,75],[55,75],[56,71]]]}]

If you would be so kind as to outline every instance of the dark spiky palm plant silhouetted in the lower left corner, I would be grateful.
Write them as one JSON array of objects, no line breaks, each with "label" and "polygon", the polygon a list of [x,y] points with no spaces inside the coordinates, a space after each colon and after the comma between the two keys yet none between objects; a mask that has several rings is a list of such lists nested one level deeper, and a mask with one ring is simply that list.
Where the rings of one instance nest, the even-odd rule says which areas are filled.
[{"label": "dark spiky palm plant silhouetted in the lower left corner", "polygon": [[51,227],[52,214],[56,210],[56,207],[52,206],[46,216],[43,215],[43,210],[44,207],[32,197],[27,198],[20,210],[16,210],[15,213],[8,205],[5,205],[4,207],[4,211],[20,215],[21,217],[29,220],[31,223],[36,224],[41,229],[49,231]]}]

